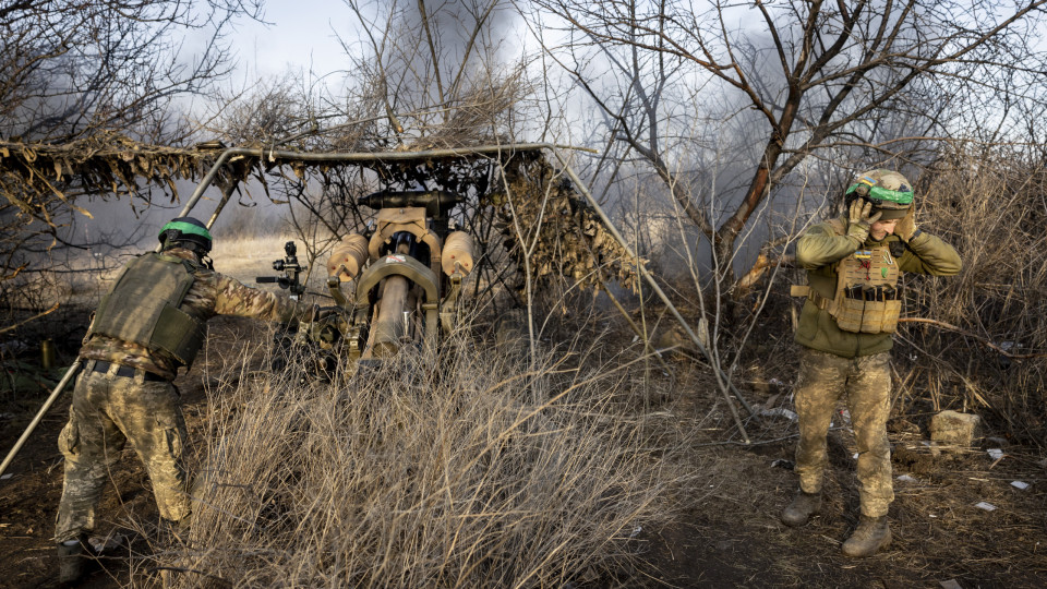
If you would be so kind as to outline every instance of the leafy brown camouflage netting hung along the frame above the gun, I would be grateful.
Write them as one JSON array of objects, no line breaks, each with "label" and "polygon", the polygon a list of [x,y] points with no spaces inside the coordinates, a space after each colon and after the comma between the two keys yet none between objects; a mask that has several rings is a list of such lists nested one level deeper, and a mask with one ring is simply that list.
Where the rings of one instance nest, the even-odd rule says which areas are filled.
[{"label": "leafy brown camouflage netting hung along the frame above the gun", "polygon": [[[268,191],[275,176],[291,182],[318,182],[326,189],[336,168],[346,166],[336,159],[273,157],[269,147],[252,148],[260,149],[258,155],[234,156],[214,183],[229,185],[254,177]],[[117,195],[132,199],[133,204],[135,200],[152,202],[157,190],[177,202],[174,181],[201,179],[224,149],[219,142],[177,148],[141,144],[118,134],[63,145],[0,141],[0,192],[7,201],[0,202],[0,218],[12,235],[50,239],[72,212],[88,215],[76,205],[81,195]],[[594,288],[606,280],[628,286],[635,283],[624,249],[540,149],[506,146],[483,154],[460,149],[351,165],[372,170],[387,185],[438,185],[470,195],[480,207],[493,207],[495,224],[505,238],[502,244],[520,271],[525,253],[519,238],[531,244],[537,231],[539,242],[530,252],[529,263],[538,279],[563,276]],[[19,256],[12,254],[17,247],[16,242],[8,243],[0,252],[9,262],[4,279],[25,267],[22,262],[14,263]]]}]

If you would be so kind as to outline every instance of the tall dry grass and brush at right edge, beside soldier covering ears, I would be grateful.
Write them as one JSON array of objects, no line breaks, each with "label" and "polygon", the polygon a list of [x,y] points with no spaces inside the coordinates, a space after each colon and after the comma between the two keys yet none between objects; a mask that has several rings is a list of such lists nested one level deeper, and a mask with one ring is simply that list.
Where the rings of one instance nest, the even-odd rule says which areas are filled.
[{"label": "tall dry grass and brush at right edge, beside soldier covering ears", "polygon": [[[899,364],[900,387],[926,389],[924,410],[977,411],[999,431],[1042,446],[1047,440],[1047,172],[1006,153],[978,159],[954,154],[940,167],[918,187],[924,194],[919,218],[956,248],[963,271],[952,278],[910,279],[906,314],[947,322],[970,335],[937,326],[904,329],[895,356],[910,362]],[[1007,358],[985,342],[1039,357]]]}]

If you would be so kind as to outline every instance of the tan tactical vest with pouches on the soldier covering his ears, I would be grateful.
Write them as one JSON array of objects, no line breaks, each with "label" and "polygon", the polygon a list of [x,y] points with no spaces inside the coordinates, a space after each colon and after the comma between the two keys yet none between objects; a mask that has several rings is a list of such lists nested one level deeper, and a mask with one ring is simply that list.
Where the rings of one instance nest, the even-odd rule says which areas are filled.
[{"label": "tan tactical vest with pouches on the soldier covering his ears", "polygon": [[[846,235],[839,220],[833,219],[829,225],[837,235]],[[844,332],[893,333],[902,311],[902,291],[898,287],[898,260],[888,244],[858,248],[838,262],[835,271],[837,291],[832,299],[809,286],[793,286],[791,293],[810,299]]]}]

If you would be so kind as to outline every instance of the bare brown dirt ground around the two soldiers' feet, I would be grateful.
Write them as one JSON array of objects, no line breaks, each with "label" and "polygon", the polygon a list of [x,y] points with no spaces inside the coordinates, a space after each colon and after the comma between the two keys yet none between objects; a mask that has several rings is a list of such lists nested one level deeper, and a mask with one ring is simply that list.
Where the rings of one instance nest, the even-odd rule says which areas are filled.
[{"label": "bare brown dirt ground around the two soldiers' feet", "polygon": [[[178,381],[190,436],[198,436],[206,404],[202,375],[220,373],[224,363],[263,339],[250,321],[219,317],[210,323],[208,352]],[[73,353],[75,348],[68,350]],[[68,358],[67,358],[68,360]],[[841,419],[830,436],[830,470],[821,516],[802,529],[783,526],[778,514],[796,486],[792,472],[795,424],[785,417],[748,422],[751,446],[722,444],[732,425],[714,395],[705,393],[700,365],[675,364],[682,375],[678,397],[666,400],[690,437],[696,471],[707,473],[689,497],[686,516],[660,530],[643,530],[637,550],[646,565],[635,582],[666,587],[1047,587],[1047,462],[1034,449],[1002,440],[966,449],[925,443],[927,416],[895,417],[890,424],[896,501],[891,507],[894,542],[861,561],[840,554],[857,519],[853,437]],[[784,390],[784,388],[783,388]],[[702,392],[699,394],[699,392]],[[787,408],[784,394],[748,389],[750,401]],[[5,454],[46,394],[0,407],[0,448]],[[62,458],[56,440],[69,406],[57,404],[0,481],[0,586],[55,586],[50,541],[61,494]],[[722,414],[724,413],[724,414]],[[698,424],[700,426],[695,426]],[[987,432],[991,436],[992,432]],[[1003,457],[986,452],[1000,447]],[[130,521],[156,519],[149,483],[133,450],[124,450],[112,471],[99,516],[99,534],[125,537],[101,561],[103,569],[84,587],[147,586],[156,573],[131,568],[130,554],[148,550],[151,530]],[[1028,484],[1020,490],[1013,481]],[[995,507],[976,506],[985,502]]]}]

